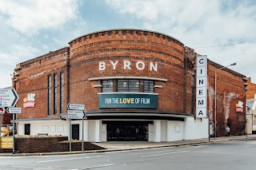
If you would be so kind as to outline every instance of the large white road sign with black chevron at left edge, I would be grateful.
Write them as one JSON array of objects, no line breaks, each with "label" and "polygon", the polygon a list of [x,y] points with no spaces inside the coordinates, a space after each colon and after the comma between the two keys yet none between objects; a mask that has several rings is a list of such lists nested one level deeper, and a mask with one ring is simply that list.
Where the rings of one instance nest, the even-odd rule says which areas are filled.
[{"label": "large white road sign with black chevron at left edge", "polygon": [[0,89],[0,107],[15,106],[18,101],[18,94],[15,89]]}]

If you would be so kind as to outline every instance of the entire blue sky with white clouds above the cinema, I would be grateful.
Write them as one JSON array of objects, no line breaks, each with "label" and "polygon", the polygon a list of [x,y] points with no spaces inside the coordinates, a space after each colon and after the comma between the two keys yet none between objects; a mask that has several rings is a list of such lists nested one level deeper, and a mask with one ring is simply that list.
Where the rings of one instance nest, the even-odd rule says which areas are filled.
[{"label": "entire blue sky with white clouds above the cinema", "polygon": [[256,83],[256,0],[0,0],[0,89],[16,64],[120,28],[168,34]]}]

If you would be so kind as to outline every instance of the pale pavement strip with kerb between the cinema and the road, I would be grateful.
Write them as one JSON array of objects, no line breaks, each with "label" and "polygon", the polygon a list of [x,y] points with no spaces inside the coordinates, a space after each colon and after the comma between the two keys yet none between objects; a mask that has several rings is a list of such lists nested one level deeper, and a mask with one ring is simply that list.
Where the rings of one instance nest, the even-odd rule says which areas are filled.
[{"label": "pale pavement strip with kerb between the cinema and the road", "polygon": [[67,154],[79,154],[79,153],[92,153],[92,152],[114,152],[114,151],[125,151],[125,150],[135,150],[135,149],[146,149],[146,148],[163,148],[163,147],[177,147],[184,145],[193,144],[210,144],[211,142],[221,142],[226,140],[243,140],[243,139],[253,139],[256,135],[246,136],[222,136],[216,138],[200,139],[200,140],[180,140],[173,142],[148,142],[148,141],[114,141],[114,142],[102,142],[94,143],[101,146],[102,150],[93,151],[74,151],[74,152],[41,152],[41,153],[0,153],[0,156],[46,156],[46,155],[67,155]]}]

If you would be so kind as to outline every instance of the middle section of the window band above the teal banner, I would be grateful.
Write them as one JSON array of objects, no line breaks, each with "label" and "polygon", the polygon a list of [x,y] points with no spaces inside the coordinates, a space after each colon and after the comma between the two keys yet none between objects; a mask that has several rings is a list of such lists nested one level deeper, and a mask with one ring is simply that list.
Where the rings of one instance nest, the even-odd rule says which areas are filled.
[{"label": "middle section of the window band above the teal banner", "polygon": [[139,92],[139,81],[118,80],[118,92]]}]

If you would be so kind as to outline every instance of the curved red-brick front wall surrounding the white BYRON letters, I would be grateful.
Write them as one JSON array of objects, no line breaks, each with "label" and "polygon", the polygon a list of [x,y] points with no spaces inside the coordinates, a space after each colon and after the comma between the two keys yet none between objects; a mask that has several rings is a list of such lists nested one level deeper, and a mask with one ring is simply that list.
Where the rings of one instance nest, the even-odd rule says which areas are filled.
[{"label": "curved red-brick front wall surrounding the white BYRON letters", "polygon": [[[167,82],[155,81],[162,89],[154,89],[159,96],[158,109],[153,110],[186,113],[184,53],[182,42],[148,30],[104,30],[76,38],[70,42],[70,102],[85,103],[87,111],[100,110],[98,93],[102,89],[94,88],[100,81],[88,81],[92,77],[155,77]],[[118,61],[116,69],[110,61]],[[131,69],[124,69],[124,61],[130,61]],[[145,69],[136,69],[138,61],[145,63]],[[106,63],[105,70],[99,70],[99,62]],[[157,71],[150,70],[150,62],[157,63]]]}]

